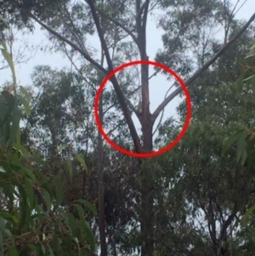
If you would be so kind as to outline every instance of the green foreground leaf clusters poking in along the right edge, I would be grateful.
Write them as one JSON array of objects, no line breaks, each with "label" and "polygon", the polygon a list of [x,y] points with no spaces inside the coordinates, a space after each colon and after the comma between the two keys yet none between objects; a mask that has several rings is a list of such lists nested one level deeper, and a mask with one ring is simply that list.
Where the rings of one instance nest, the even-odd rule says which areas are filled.
[{"label": "green foreground leaf clusters poking in along the right edge", "polygon": [[[252,98],[254,100],[254,44],[250,48],[250,52],[246,57],[246,73],[241,77],[239,82],[241,97],[246,100]],[[252,62],[252,63],[251,63]],[[245,79],[244,79],[245,78]],[[226,140],[224,145],[224,153],[227,154],[230,150],[235,149],[236,151],[236,162],[241,162],[244,167],[254,167],[254,130],[251,126],[252,121],[247,123],[246,126],[239,126],[235,128],[235,133],[231,134]],[[237,130],[237,131],[236,131]],[[254,193],[252,187],[253,179],[246,184],[247,193],[251,196]],[[254,251],[254,202],[250,208],[246,208],[246,213],[241,219],[241,230],[238,231],[237,236],[241,241],[240,251],[246,252],[246,255],[252,255]]]}]

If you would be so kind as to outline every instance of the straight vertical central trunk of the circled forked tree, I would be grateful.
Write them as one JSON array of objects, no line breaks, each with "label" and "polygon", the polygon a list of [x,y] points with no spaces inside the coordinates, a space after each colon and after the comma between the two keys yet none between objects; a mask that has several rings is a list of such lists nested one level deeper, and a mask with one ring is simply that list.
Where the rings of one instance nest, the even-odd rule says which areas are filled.
[{"label": "straight vertical central trunk of the circled forked tree", "polygon": [[[137,31],[138,46],[141,60],[148,60],[146,53],[146,22],[150,0],[144,2],[141,6],[140,0],[136,1],[137,13]],[[149,65],[141,65],[141,82],[142,82],[142,115],[139,121],[142,126],[143,133],[143,151],[151,152],[153,150],[152,143],[152,122],[150,114],[150,94],[149,94]],[[154,253],[153,242],[153,186],[152,181],[148,182],[148,171],[139,165],[141,180],[141,256],[152,256]]]}]

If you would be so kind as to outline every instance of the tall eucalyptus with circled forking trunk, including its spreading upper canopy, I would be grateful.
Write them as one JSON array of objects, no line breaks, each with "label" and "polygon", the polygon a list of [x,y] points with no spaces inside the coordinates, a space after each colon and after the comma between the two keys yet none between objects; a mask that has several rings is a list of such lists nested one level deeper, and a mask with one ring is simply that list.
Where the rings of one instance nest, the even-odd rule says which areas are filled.
[{"label": "tall eucalyptus with circled forking trunk, including its spreading upper canopy", "polygon": [[[160,60],[178,71],[185,78],[187,86],[190,86],[203,71],[206,71],[215,60],[218,60],[218,57],[224,54],[232,43],[235,43],[255,18],[255,14],[253,14],[250,20],[241,27],[240,31],[237,31],[233,37],[229,37],[231,26],[233,22],[235,23],[236,10],[236,6],[231,9],[229,1],[136,0],[130,3],[125,0],[88,0],[84,2],[66,0],[18,2],[12,0],[4,1],[1,4],[3,11],[13,13],[16,20],[20,21],[21,18],[29,25],[32,24],[31,20],[36,21],[49,32],[56,46],[64,48],[71,58],[74,54],[79,54],[82,60],[86,60],[86,64],[89,63],[94,67],[95,74],[100,81],[119,63],[134,58],[149,59],[146,47],[148,17],[150,13],[156,15],[156,9],[159,9],[160,13],[156,15],[155,21],[157,26],[161,26],[164,31],[162,37],[164,46],[161,52],[157,54],[156,60]],[[217,44],[215,38],[207,36],[208,29],[213,30],[218,26],[224,28],[224,40],[219,44]],[[90,48],[91,46],[88,43],[89,36],[95,36],[95,31],[97,31],[99,38],[100,60],[94,57],[94,49]],[[129,46],[129,48],[126,48],[127,51],[124,51],[123,54],[118,50],[122,49],[124,45]],[[212,56],[207,54],[210,48],[213,48],[214,51]],[[201,60],[199,62],[192,63],[192,59],[189,57],[191,50],[200,56]],[[82,72],[80,66],[77,69]],[[111,83],[133,139],[135,151],[143,153],[153,151],[152,128],[156,118],[164,107],[181,93],[182,89],[180,87],[176,88],[173,94],[168,95],[166,100],[156,108],[156,111],[150,113],[148,65],[141,65],[139,78],[141,80],[142,115],[139,115],[133,105],[127,101],[122,84],[115,76],[111,77]],[[139,84],[136,84],[134,88],[127,89],[136,90],[138,87]],[[130,108],[141,123],[142,143],[133,124]],[[102,145],[100,141],[99,139],[99,144]],[[99,157],[102,159],[102,152]],[[139,165],[140,162],[143,161],[139,161]],[[141,255],[147,256],[153,255],[154,252],[154,185],[153,180],[146,181],[148,174],[145,171],[140,172],[140,174],[141,207],[143,208],[139,216],[140,247]],[[104,233],[104,227],[101,233]],[[106,255],[105,238],[103,236],[101,238],[104,243],[101,244],[102,255]]]}]

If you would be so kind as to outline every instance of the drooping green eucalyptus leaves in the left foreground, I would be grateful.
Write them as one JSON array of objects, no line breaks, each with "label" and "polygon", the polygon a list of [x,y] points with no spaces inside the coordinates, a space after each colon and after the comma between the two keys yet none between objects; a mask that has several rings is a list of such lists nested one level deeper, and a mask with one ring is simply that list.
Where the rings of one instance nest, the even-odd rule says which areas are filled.
[{"label": "drooping green eucalyptus leaves in the left foreground", "polygon": [[[6,52],[3,55],[9,58]],[[10,58],[8,63],[14,77]],[[25,88],[21,92],[27,95]],[[3,90],[0,97],[0,255],[92,255],[95,241],[86,212],[95,214],[94,206],[77,200],[62,207],[59,177],[46,175],[47,162],[20,144],[20,99],[26,109],[24,114],[30,114],[21,92],[13,95]],[[77,159],[86,168],[82,156],[77,155]]]}]

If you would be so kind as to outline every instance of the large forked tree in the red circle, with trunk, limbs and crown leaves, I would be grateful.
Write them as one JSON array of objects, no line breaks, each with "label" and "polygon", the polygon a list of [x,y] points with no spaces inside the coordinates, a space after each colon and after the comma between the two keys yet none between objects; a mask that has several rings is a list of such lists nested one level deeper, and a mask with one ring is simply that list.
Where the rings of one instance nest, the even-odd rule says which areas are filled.
[{"label": "large forked tree in the red circle, with trunk, limbs and crown leaves", "polygon": [[[161,21],[160,25],[162,28],[167,31],[166,35],[163,37],[165,43],[164,49],[166,53],[171,54],[169,55],[169,58],[172,58],[173,64],[180,60],[179,54],[184,52],[184,45],[178,42],[191,42],[196,48],[199,46],[199,43],[201,43],[201,40],[199,40],[200,38],[197,39],[197,37],[190,37],[189,31],[194,25],[198,29],[201,27],[206,29],[208,24],[211,25],[215,23],[218,25],[224,22],[225,37],[223,47],[220,48],[211,59],[207,60],[207,62],[204,61],[208,56],[205,52],[207,48],[201,48],[203,57],[202,61],[199,62],[201,68],[199,68],[198,71],[195,71],[195,73],[186,80],[186,85],[188,86],[190,86],[190,83],[194,82],[203,71],[207,70],[207,68],[212,65],[221,54],[224,54],[232,43],[235,43],[235,40],[241,36],[241,33],[246,30],[255,18],[255,14],[252,15],[251,19],[242,27],[241,31],[237,32],[234,37],[229,39],[228,31],[231,27],[230,25],[233,24],[233,14],[235,11],[230,10],[228,4],[223,4],[219,1],[183,1],[181,3],[175,3],[172,1],[141,2],[137,0],[135,3],[130,5],[125,4],[125,1],[106,1],[105,3],[101,3],[99,1],[86,1],[86,3],[74,4],[59,1],[54,3],[54,5],[48,4],[47,1],[43,3],[31,1],[29,2],[31,3],[29,6],[24,5],[25,2],[22,2],[21,5],[17,4],[16,1],[10,1],[9,3],[11,3],[11,6],[14,7],[14,9],[20,11],[21,17],[24,18],[24,14],[26,14],[26,17],[31,17],[32,20],[36,20],[43,28],[49,31],[53,37],[58,38],[60,40],[60,47],[63,48],[63,43],[67,43],[67,45],[71,47],[71,50],[68,51],[69,53],[77,51],[79,54],[82,54],[82,57],[85,60],[88,60],[88,62],[95,67],[96,71],[99,72],[97,74],[99,77],[102,77],[102,73],[103,75],[107,74],[108,71],[113,70],[114,66],[116,66],[117,61],[115,61],[116,59],[111,58],[111,53],[113,52],[113,49],[119,45],[119,39],[122,38],[122,36],[124,37],[128,35],[128,37],[131,37],[133,45],[136,46],[139,59],[148,60],[146,53],[146,23],[148,14],[156,7],[161,8],[161,10],[165,10],[164,14],[166,15],[162,15],[164,19],[159,21]],[[225,1],[224,3],[227,2]],[[187,9],[192,11],[188,12]],[[200,15],[197,15],[196,12]],[[81,16],[81,14],[83,15]],[[85,16],[87,17],[87,20],[84,20]],[[77,19],[78,17],[81,17],[81,19]],[[168,20],[167,17],[171,18],[168,18]],[[58,20],[61,20],[61,22],[57,22]],[[132,22],[132,20],[134,21]],[[212,22],[212,20],[214,22]],[[168,26],[165,26],[165,24]],[[169,28],[170,25],[173,27],[173,31]],[[94,29],[96,29],[99,34],[102,56],[104,56],[103,59],[106,60],[106,65],[108,66],[107,69],[104,67],[105,62],[102,61],[99,64],[97,60],[91,57],[88,49],[84,44],[82,44],[83,40],[81,40],[81,38],[84,39],[88,33],[93,33]],[[62,31],[64,33],[61,33]],[[173,34],[177,36],[172,36]],[[171,40],[169,39],[170,37],[172,37]],[[171,45],[169,43],[171,43]],[[208,43],[206,46],[208,47]],[[188,50],[189,48],[187,48],[187,51]],[[161,54],[158,55],[158,58],[158,60],[162,59]],[[117,60],[124,61],[127,59],[128,55]],[[166,57],[162,62],[167,63],[167,61],[170,63],[170,60]],[[180,72],[182,72],[184,76],[188,77],[190,75],[190,71],[192,71],[191,68],[192,66],[190,67],[190,65],[181,66]],[[176,69],[178,69],[178,65],[176,65]],[[142,85],[141,94],[143,115],[139,117],[139,121],[142,126],[143,147],[140,144],[139,135],[133,125],[130,110],[126,103],[125,96],[122,93],[122,87],[116,77],[111,78],[117,99],[119,100],[119,104],[121,105],[127,126],[133,139],[133,145],[135,150],[139,153],[142,151],[150,152],[153,150],[152,128],[156,121],[156,117],[158,117],[167,103],[169,103],[170,100],[173,100],[173,98],[181,92],[181,88],[177,88],[173,94],[169,95],[167,99],[158,106],[154,113],[150,114],[148,66],[141,66],[140,77]],[[147,256],[152,255],[154,251],[153,193],[151,192],[154,191],[154,187],[153,181],[146,181],[148,178],[146,169],[142,168],[142,164],[139,163],[139,165],[141,166],[141,206],[144,208],[144,211],[141,212],[141,216],[139,218],[141,222],[141,240],[144,241],[141,247],[142,256]]]}]

